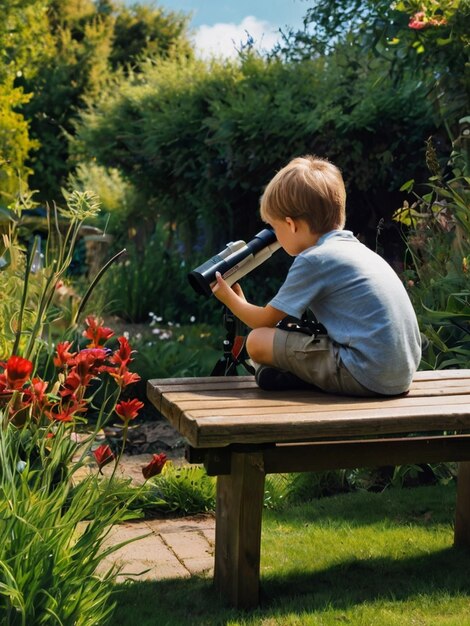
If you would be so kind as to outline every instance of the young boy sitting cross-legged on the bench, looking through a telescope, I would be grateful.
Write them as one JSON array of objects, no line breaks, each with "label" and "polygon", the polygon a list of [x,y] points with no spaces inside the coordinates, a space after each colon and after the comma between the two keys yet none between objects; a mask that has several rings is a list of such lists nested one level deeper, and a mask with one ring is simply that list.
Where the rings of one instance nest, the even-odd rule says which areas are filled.
[{"label": "young boy sitting cross-legged on the bench, looking through a telescope", "polygon": [[[247,351],[259,364],[263,389],[298,389],[355,396],[406,392],[421,357],[416,315],[393,269],[361,244],[345,223],[346,191],[325,159],[293,159],[266,187],[261,217],[295,257],[277,295],[264,307],[220,274],[214,295],[253,330]],[[276,325],[309,308],[326,335]]]}]

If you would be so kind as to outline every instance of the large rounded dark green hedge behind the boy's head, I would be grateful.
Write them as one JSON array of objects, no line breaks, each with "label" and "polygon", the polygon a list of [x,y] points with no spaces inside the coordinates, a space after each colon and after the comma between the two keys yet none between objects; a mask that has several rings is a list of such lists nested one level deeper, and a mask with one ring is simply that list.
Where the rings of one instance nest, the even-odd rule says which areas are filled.
[{"label": "large rounded dark green hedge behind the boy's head", "polygon": [[343,169],[350,226],[375,238],[386,193],[418,167],[432,128],[423,89],[411,76],[400,89],[383,84],[381,72],[359,53],[354,64],[251,52],[239,63],[148,63],[83,114],[78,136],[145,194],[148,213],[177,226],[187,250],[254,232],[264,185],[307,152]]}]

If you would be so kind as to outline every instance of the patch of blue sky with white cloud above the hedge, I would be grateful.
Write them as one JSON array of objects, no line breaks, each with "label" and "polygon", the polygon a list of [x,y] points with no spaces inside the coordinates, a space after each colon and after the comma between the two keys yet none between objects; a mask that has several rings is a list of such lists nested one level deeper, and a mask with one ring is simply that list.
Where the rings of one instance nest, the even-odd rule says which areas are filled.
[{"label": "patch of blue sky with white cloud above the hedge", "polygon": [[[133,4],[126,0],[127,4]],[[301,28],[311,6],[306,0],[139,0],[171,11],[192,14],[190,23],[199,56],[236,56],[247,33],[259,50],[270,50],[280,39],[279,29]]]}]

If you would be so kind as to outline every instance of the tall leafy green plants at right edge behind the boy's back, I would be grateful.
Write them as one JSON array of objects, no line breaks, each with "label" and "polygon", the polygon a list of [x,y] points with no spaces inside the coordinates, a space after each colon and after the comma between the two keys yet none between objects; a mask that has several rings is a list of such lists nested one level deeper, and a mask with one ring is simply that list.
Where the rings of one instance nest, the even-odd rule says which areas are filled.
[{"label": "tall leafy green plants at right edge behind the boy's back", "polygon": [[[461,141],[468,142],[463,120]],[[408,259],[405,280],[422,330],[430,340],[422,367],[468,367],[470,358],[470,161],[456,150],[444,172],[429,140],[431,177],[424,195],[397,211],[406,227]],[[414,181],[403,189],[412,191]]]}]

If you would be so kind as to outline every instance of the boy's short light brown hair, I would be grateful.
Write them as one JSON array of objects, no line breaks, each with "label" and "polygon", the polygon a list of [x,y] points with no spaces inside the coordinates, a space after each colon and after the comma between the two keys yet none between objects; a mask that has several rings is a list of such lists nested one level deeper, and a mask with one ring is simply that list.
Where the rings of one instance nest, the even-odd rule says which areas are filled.
[{"label": "boy's short light brown hair", "polygon": [[307,222],[312,233],[341,229],[346,221],[346,190],[339,169],[319,157],[292,159],[269,182],[261,198],[261,219],[286,217]]}]

